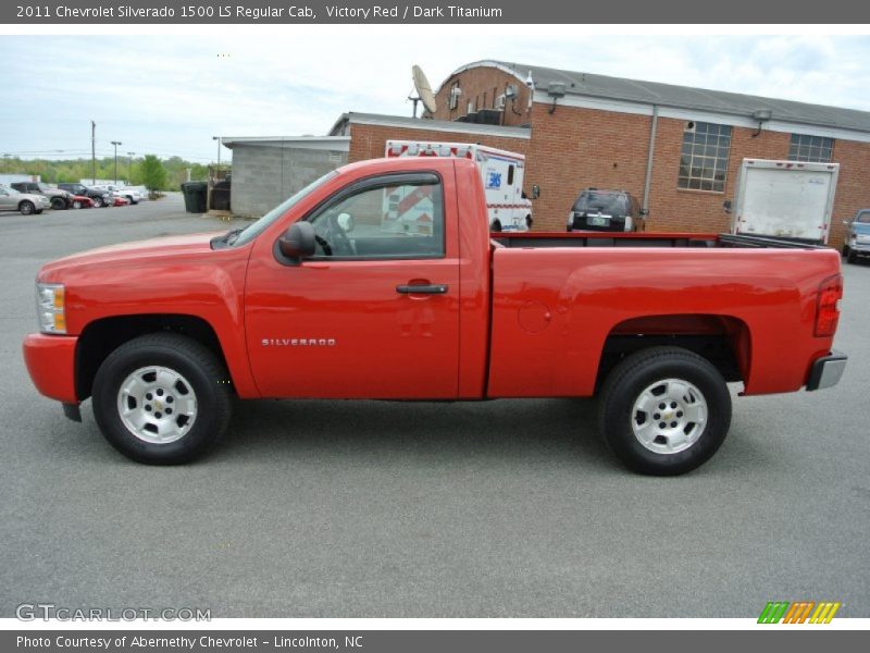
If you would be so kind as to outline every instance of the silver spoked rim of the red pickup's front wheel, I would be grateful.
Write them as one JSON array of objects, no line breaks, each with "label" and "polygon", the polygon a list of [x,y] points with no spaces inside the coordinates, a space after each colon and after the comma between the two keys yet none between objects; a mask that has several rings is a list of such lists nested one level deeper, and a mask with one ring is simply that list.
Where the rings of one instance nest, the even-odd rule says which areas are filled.
[{"label": "silver spoked rim of the red pickup's front wheel", "polygon": [[142,367],[121,383],[117,414],[138,440],[169,444],[187,435],[194,427],[197,395],[190,382],[175,370]]}]

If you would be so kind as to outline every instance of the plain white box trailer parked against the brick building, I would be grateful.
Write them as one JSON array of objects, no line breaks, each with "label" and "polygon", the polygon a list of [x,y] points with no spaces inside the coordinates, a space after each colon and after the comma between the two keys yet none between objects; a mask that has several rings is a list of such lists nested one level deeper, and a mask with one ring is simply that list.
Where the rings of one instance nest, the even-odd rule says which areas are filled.
[{"label": "plain white box trailer parked against the brick building", "polygon": [[825,244],[840,163],[744,159],[731,233]]}]

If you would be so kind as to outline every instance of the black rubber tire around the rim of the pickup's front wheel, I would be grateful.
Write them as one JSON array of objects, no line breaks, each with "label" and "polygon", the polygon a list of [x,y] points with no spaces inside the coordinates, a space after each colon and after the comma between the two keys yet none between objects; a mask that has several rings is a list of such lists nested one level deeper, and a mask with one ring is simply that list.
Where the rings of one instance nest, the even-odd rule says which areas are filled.
[{"label": "black rubber tire around the rim of the pickup's front wheel", "polygon": [[[196,416],[192,426],[173,442],[149,442],[134,434],[121,417],[119,404],[123,385],[135,372],[150,366],[181,374],[184,381],[182,394],[187,394],[183,392],[185,387],[194,393]],[[121,345],[100,366],[94,380],[94,417],[109,443],[133,460],[149,465],[190,463],[206,454],[226,432],[233,406],[228,379],[223,362],[198,342],[173,333],[142,335]],[[170,389],[165,394],[174,391]],[[153,410],[169,412],[169,401],[166,396],[163,407],[156,402]],[[182,401],[179,395],[175,405],[179,406]],[[152,408],[147,409],[150,419]],[[160,412],[153,415],[161,417]],[[174,420],[175,424],[184,419],[181,414],[173,418],[163,417]]]}]

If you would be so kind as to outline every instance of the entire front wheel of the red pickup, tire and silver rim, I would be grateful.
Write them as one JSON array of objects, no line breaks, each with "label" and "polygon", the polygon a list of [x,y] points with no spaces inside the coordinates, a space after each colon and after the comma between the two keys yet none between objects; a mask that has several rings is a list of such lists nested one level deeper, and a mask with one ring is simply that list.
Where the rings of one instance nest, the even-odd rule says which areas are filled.
[{"label": "entire front wheel of the red pickup, tire and silver rim", "polygon": [[158,333],[125,343],[94,380],[94,416],[122,454],[151,465],[202,456],[226,431],[232,412],[221,360],[188,337]]}]

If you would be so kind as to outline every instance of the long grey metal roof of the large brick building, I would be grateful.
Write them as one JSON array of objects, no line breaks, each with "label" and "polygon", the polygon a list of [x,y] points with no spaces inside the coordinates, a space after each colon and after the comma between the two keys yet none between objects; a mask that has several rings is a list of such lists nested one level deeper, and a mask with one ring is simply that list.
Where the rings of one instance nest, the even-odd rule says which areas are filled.
[{"label": "long grey metal roof of the large brick building", "polygon": [[536,90],[546,91],[550,83],[556,82],[564,84],[568,95],[728,113],[745,118],[751,116],[758,110],[769,109],[773,114],[773,120],[778,121],[870,133],[870,112],[867,111],[562,71],[540,65],[476,61],[458,69],[450,77],[462,71],[482,66],[499,67],[513,73],[522,83],[525,83],[531,73]]}]

